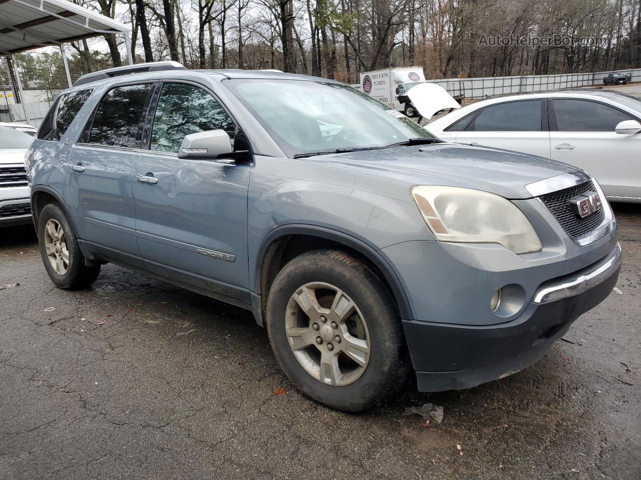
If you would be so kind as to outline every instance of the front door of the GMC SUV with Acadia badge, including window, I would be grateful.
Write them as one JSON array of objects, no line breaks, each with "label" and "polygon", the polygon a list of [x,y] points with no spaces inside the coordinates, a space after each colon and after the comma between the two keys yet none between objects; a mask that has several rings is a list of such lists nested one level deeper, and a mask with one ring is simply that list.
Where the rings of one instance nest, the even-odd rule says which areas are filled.
[{"label": "front door of the GMC SUV with Acadia badge, including window", "polygon": [[134,172],[138,246],[150,271],[248,303],[251,166],[177,156],[186,135],[216,129],[233,141],[237,126],[210,93],[162,84]]}]

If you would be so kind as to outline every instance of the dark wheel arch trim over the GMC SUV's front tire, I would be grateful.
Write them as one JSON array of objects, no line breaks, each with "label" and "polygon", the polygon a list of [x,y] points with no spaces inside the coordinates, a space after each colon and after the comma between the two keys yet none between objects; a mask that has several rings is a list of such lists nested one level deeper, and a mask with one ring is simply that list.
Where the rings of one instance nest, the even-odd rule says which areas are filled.
[{"label": "dark wheel arch trim over the GMC SUV's front tire", "polygon": [[[283,225],[263,238],[256,255],[254,289],[260,305],[254,305],[259,324],[263,323],[267,293],[278,271],[291,258],[317,248],[337,248],[365,260],[387,286],[399,308],[401,318],[411,319],[412,309],[394,268],[373,246],[354,236],[315,225]],[[258,311],[256,311],[258,310]]]}]

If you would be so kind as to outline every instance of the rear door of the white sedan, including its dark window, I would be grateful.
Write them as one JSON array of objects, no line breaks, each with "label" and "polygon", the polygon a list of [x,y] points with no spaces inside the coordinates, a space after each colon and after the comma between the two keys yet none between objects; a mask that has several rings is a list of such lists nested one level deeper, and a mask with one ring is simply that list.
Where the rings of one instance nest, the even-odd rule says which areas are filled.
[{"label": "rear door of the white sedan, including its dark window", "polygon": [[[429,128],[429,127],[428,127]],[[550,156],[547,102],[514,100],[483,108],[454,141]]]}]

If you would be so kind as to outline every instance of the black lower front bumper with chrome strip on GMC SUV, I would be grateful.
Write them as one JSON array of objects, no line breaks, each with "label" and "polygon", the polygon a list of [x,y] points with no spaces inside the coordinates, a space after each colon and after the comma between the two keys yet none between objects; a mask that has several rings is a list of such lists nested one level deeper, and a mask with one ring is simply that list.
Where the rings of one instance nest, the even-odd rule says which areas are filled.
[{"label": "black lower front bumper with chrome strip on GMC SUV", "polygon": [[540,285],[515,320],[471,326],[404,320],[423,392],[470,388],[503,378],[539,360],[581,314],[601,303],[619,277],[621,250],[588,268]]}]

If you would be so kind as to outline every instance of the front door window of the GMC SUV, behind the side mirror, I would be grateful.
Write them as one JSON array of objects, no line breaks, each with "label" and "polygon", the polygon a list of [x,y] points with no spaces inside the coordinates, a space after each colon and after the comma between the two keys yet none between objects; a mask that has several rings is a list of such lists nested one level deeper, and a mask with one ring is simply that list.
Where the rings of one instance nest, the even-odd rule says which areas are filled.
[{"label": "front door window of the GMC SUV, behind the side mirror", "polygon": [[156,106],[151,150],[178,152],[188,134],[222,129],[233,143],[233,120],[212,95],[185,83],[165,83]]}]

